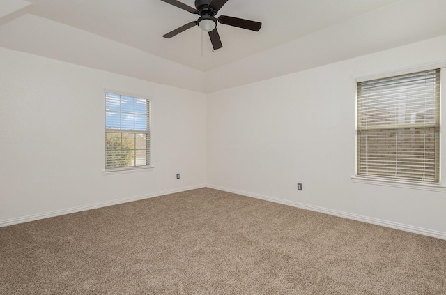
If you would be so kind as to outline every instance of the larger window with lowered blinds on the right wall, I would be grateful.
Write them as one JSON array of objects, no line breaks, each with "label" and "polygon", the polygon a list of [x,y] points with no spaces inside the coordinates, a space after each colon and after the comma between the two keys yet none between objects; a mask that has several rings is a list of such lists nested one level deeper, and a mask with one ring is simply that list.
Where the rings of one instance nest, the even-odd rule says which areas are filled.
[{"label": "larger window with lowered blinds on the right wall", "polygon": [[357,83],[357,176],[440,181],[440,70]]}]

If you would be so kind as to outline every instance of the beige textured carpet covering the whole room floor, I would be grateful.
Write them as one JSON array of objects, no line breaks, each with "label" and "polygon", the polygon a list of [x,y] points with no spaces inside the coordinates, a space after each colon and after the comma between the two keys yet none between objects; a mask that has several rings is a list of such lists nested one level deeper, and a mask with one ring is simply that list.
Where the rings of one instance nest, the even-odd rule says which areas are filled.
[{"label": "beige textured carpet covering the whole room floor", "polygon": [[0,294],[446,294],[446,241],[202,188],[0,228]]}]

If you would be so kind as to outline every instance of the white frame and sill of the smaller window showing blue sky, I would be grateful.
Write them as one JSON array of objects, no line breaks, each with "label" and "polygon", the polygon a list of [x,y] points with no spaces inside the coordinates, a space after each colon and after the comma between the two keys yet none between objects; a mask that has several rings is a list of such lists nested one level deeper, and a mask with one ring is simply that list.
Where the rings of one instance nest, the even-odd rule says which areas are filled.
[{"label": "white frame and sill of the smaller window showing blue sky", "polygon": [[109,89],[104,89],[104,98],[105,98],[105,105],[107,103],[107,93],[111,93],[113,95],[116,96],[127,96],[130,98],[137,98],[137,99],[143,99],[146,100],[147,103],[147,112],[146,112],[146,116],[147,116],[147,130],[124,130],[124,129],[107,129],[107,107],[105,106],[105,141],[106,141],[106,137],[107,137],[107,133],[133,133],[135,135],[140,134],[140,133],[145,133],[147,134],[147,144],[146,144],[146,165],[138,165],[136,166],[136,163],[134,163],[134,165],[132,166],[128,166],[128,167],[113,167],[113,168],[107,168],[107,146],[106,146],[106,142],[104,143],[104,147],[105,147],[105,163],[104,166],[105,167],[102,170],[103,174],[121,174],[121,173],[132,173],[132,172],[144,172],[144,171],[149,171],[151,169],[153,169],[153,165],[152,165],[152,130],[151,130],[151,110],[152,110],[152,101],[151,98],[148,98],[147,96],[144,95],[138,95],[138,94],[134,94],[134,93],[128,93],[128,92],[123,92],[123,91],[116,91],[116,90],[109,90]]}]

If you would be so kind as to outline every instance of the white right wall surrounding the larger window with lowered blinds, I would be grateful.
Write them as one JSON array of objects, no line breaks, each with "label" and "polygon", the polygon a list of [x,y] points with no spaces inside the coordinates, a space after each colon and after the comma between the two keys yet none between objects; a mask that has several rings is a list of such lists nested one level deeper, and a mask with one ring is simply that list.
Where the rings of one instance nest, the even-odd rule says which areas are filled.
[{"label": "white right wall surrounding the larger window with lowered blinds", "polygon": [[[446,239],[445,192],[351,180],[355,80],[431,63],[444,66],[445,61],[446,36],[442,36],[211,93],[208,185]],[[303,184],[302,191],[296,183]]]}]

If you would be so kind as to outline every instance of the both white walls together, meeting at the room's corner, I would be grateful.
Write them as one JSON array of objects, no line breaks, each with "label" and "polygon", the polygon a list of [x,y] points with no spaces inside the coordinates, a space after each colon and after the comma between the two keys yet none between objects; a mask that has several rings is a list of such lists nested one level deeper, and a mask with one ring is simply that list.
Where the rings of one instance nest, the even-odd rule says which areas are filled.
[{"label": "both white walls together, meeting at the room's corner", "polygon": [[[0,48],[0,226],[207,183],[446,239],[444,192],[351,181],[355,79],[445,61],[442,36],[206,96]],[[102,174],[103,89],[151,96],[155,169]]]}]

